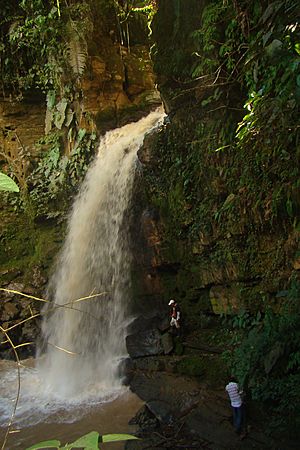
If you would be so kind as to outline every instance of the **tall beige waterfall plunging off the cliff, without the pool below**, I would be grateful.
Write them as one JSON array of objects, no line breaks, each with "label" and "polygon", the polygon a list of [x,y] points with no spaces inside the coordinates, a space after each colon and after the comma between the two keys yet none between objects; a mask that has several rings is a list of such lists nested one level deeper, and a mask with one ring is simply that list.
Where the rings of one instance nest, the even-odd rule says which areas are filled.
[{"label": "tall beige waterfall plunging off the cliff, without the pool below", "polygon": [[[44,310],[47,343],[39,372],[60,398],[121,386],[129,320],[130,200],[137,150],[162,119],[161,110],[110,131],[77,195]],[[88,299],[90,295],[99,294]]]}]

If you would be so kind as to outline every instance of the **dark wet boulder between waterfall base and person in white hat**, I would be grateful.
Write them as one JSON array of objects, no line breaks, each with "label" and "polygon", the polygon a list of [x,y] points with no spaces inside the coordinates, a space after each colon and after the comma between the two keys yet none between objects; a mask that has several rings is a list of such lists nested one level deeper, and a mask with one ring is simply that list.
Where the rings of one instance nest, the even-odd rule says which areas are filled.
[{"label": "dark wet boulder between waterfall base and person in white hat", "polygon": [[158,330],[146,330],[127,336],[127,351],[131,358],[141,356],[161,355],[163,347]]}]

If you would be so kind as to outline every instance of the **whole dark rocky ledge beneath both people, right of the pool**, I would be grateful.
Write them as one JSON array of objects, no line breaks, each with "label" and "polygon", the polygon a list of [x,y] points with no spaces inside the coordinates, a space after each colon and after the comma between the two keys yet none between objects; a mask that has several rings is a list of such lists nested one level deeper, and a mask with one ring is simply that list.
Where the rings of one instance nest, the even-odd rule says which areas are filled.
[{"label": "whole dark rocky ledge beneath both people, right of the pool", "polygon": [[[265,419],[250,401],[245,403],[246,437],[241,440],[235,434],[220,349],[193,346],[186,333],[174,338],[159,315],[139,317],[131,333],[127,380],[145,405],[130,422],[138,425],[141,440],[126,443],[127,450],[279,448],[278,441],[265,434]],[[297,448],[290,442],[280,445]]]}]

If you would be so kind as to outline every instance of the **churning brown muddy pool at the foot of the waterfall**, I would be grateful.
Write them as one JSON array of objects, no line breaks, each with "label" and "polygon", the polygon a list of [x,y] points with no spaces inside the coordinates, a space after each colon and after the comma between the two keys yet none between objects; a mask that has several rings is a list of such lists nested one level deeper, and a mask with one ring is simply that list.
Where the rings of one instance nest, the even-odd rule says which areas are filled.
[{"label": "churning brown muddy pool at the foot of the waterfall", "polygon": [[[86,402],[58,402],[55,397],[41,394],[33,362],[26,361],[21,368],[21,392],[12,431],[3,447],[6,426],[17,394],[16,364],[0,362],[0,445],[5,450],[25,450],[31,445],[58,439],[62,444],[73,442],[91,431],[100,434],[133,433],[128,425],[143,402],[127,388],[111,392],[105,398]],[[22,385],[23,382],[23,385]],[[22,389],[23,388],[23,389]],[[123,442],[101,444],[103,449],[124,449]]]}]

